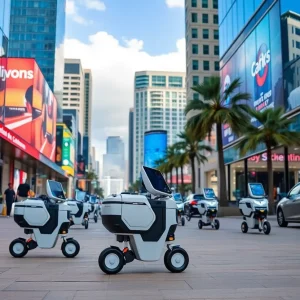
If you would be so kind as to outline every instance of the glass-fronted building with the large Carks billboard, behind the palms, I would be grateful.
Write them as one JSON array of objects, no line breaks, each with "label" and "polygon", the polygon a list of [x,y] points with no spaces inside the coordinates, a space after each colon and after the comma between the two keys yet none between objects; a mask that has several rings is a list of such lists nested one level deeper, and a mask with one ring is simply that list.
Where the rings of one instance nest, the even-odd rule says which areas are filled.
[{"label": "glass-fronted building with the large Carks billboard, behind the palms", "polygon": [[[219,0],[222,90],[240,78],[240,91],[257,111],[283,107],[300,131],[300,6],[293,0]],[[230,99],[228,99],[230,107]],[[258,124],[252,120],[253,125]],[[248,182],[261,182],[279,200],[300,181],[299,147],[273,149],[274,190],[267,189],[264,145],[241,157],[237,137],[223,127],[229,200],[245,196]]]}]

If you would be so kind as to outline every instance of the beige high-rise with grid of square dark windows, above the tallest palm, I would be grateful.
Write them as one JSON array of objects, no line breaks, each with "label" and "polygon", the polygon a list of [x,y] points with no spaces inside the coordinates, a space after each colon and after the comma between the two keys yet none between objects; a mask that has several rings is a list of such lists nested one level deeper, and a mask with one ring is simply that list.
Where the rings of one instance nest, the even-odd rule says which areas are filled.
[{"label": "beige high-rise with grid of square dark windows, above the tallest palm", "polygon": [[187,99],[198,99],[193,86],[219,75],[218,0],[185,0]]}]

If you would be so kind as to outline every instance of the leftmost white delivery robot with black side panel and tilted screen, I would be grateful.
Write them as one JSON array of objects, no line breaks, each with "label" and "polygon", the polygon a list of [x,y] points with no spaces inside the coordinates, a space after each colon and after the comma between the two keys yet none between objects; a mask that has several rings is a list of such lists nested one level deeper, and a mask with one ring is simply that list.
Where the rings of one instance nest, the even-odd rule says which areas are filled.
[{"label": "leftmost white delivery robot with black side panel and tilted screen", "polygon": [[11,242],[9,252],[14,257],[23,257],[28,250],[36,247],[54,248],[60,234],[64,256],[72,258],[79,253],[79,243],[73,238],[66,238],[70,227],[70,208],[62,185],[53,180],[47,180],[46,184],[48,196],[15,203],[14,220],[30,238],[18,238]]}]

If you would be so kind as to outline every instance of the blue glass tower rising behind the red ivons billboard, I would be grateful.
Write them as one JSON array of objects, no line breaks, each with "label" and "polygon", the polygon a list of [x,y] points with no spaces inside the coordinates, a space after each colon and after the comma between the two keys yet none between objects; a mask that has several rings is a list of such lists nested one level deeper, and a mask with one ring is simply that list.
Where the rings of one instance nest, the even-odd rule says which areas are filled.
[{"label": "blue glass tower rising behind the red ivons billboard", "polygon": [[[2,12],[3,0],[0,2]],[[65,15],[65,0],[11,1],[9,56],[36,59],[57,98],[59,121],[62,120]]]}]

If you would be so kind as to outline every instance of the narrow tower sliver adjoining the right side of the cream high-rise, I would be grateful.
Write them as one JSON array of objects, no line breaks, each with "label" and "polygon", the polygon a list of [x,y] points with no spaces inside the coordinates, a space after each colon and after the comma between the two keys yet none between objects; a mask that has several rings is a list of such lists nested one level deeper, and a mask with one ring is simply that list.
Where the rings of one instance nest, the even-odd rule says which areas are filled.
[{"label": "narrow tower sliver adjoining the right side of the cream high-rise", "polygon": [[[85,149],[86,157],[88,159],[88,153],[91,151],[92,142],[92,91],[93,91],[93,80],[92,72],[89,69],[84,71],[84,130],[83,138],[87,143]],[[89,164],[87,160],[86,164]]]}]

